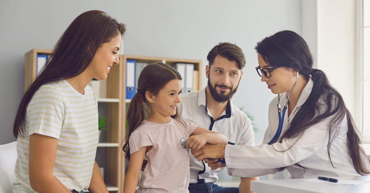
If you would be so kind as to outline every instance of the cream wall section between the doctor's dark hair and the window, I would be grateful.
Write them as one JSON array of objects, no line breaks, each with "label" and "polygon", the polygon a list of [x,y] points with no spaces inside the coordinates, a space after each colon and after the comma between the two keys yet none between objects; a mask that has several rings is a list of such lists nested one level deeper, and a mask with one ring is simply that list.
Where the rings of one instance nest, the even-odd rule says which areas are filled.
[{"label": "cream wall section between the doctor's dark hair and the window", "polygon": [[317,64],[355,116],[355,0],[317,2]]}]

